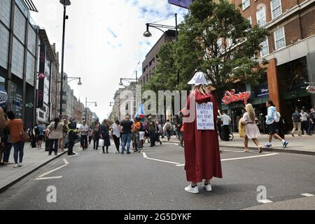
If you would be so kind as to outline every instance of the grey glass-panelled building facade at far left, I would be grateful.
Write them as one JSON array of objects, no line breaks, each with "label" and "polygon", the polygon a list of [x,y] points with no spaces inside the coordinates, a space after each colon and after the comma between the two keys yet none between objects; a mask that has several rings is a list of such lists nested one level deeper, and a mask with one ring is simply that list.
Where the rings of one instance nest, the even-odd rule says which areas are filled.
[{"label": "grey glass-panelled building facade at far left", "polygon": [[22,0],[0,1],[0,85],[8,92],[5,111],[26,128],[35,123],[38,27]]}]

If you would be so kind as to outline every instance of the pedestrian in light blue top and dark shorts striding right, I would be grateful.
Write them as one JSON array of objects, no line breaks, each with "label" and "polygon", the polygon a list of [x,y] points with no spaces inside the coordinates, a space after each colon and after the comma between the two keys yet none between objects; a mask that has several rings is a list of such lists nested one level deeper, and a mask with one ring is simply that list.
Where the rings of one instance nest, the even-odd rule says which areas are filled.
[{"label": "pedestrian in light blue top and dark shorts striding right", "polygon": [[265,145],[267,148],[272,147],[272,138],[276,138],[282,143],[282,148],[286,148],[288,146],[288,141],[282,139],[278,134],[278,122],[280,120],[279,114],[276,113],[276,107],[274,106],[274,102],[269,100],[266,102],[267,106],[267,116],[266,116],[266,124],[269,125],[269,141]]}]

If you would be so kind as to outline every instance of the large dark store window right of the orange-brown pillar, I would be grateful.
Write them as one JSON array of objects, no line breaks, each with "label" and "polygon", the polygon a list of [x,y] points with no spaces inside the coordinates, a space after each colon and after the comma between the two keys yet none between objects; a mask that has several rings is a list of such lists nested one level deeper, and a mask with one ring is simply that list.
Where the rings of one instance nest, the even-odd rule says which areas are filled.
[{"label": "large dark store window right of the orange-brown pillar", "polygon": [[305,83],[309,82],[306,57],[281,64],[277,68],[280,92],[305,89]]}]

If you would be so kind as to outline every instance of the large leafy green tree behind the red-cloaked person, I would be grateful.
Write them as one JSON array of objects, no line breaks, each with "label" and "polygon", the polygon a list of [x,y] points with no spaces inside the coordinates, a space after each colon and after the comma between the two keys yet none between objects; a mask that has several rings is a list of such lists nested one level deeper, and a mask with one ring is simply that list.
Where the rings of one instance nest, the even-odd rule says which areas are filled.
[{"label": "large leafy green tree behind the red-cloaked person", "polygon": [[[195,0],[180,25],[174,62],[181,73],[181,85],[195,71],[203,71],[221,102],[225,90],[236,82],[258,85],[265,68],[255,55],[268,32],[251,27],[239,8],[228,0]],[[265,64],[265,62],[263,62]]]}]

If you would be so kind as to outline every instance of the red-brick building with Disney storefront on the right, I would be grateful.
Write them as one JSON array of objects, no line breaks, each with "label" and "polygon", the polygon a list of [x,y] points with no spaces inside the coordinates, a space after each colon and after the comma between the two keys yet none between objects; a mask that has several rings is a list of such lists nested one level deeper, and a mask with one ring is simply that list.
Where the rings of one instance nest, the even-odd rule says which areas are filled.
[{"label": "red-brick building with Disney storefront on the right", "polygon": [[[314,94],[306,91],[315,82],[315,1],[314,0],[230,0],[251,25],[269,31],[261,43],[260,59],[265,58],[267,74],[258,87],[239,85],[237,92],[251,92],[249,100],[263,124],[267,113],[265,102],[271,99],[285,118],[287,130],[292,128],[291,115],[295,108],[309,110],[315,105]],[[305,84],[307,83],[307,84]],[[237,120],[242,105],[225,106]],[[263,127],[262,127],[263,128]]]}]

